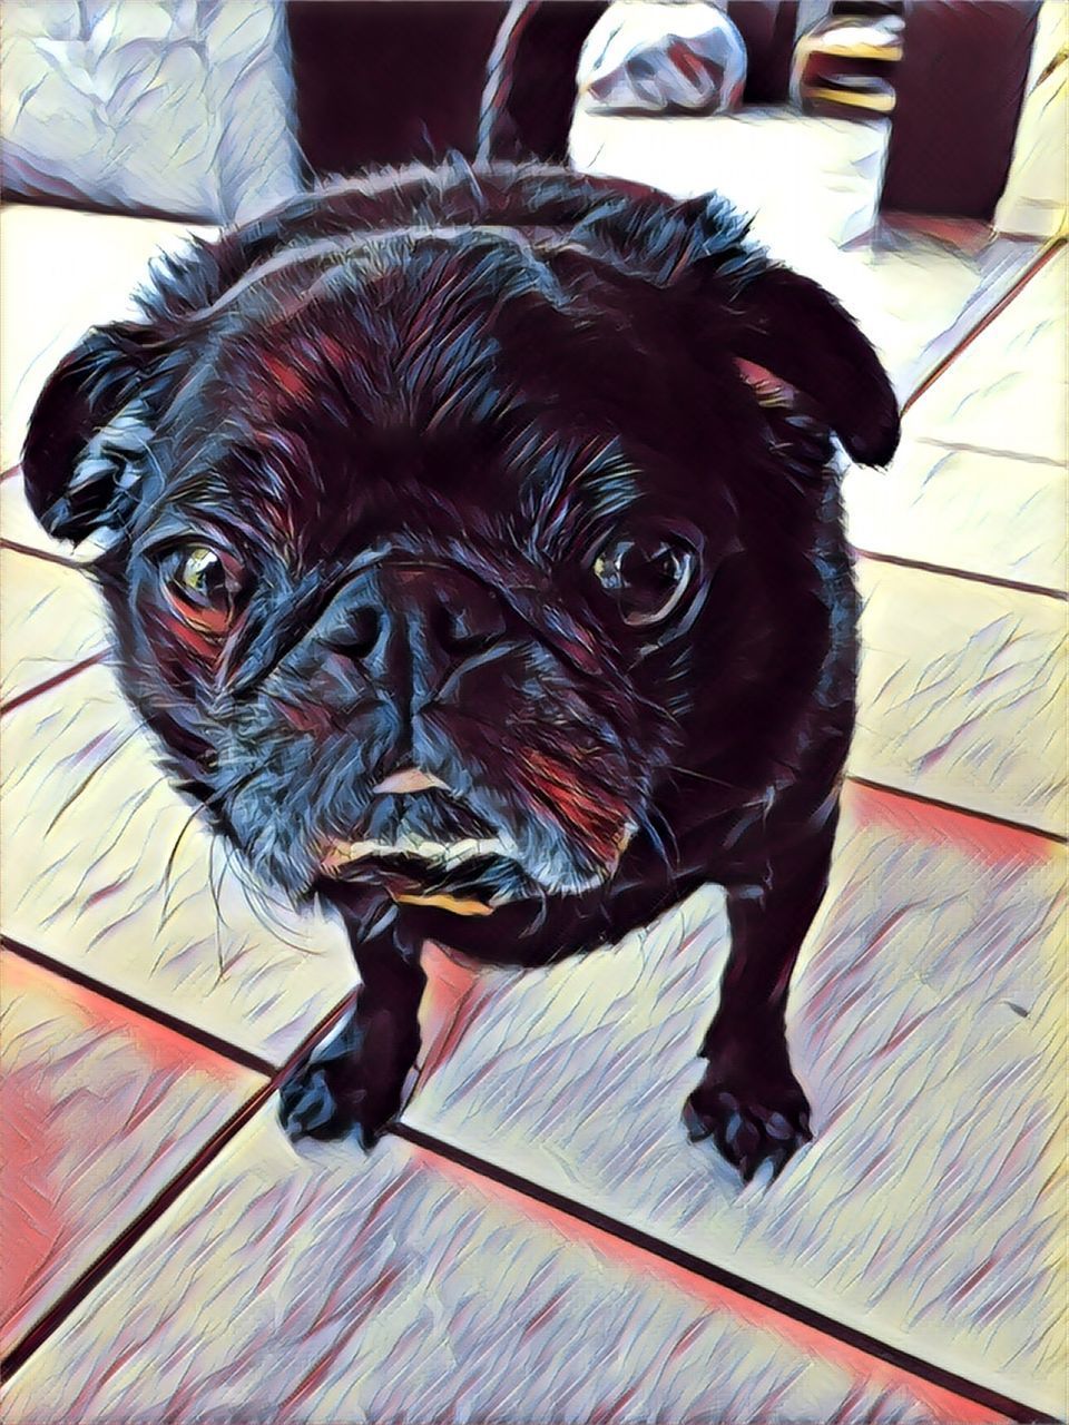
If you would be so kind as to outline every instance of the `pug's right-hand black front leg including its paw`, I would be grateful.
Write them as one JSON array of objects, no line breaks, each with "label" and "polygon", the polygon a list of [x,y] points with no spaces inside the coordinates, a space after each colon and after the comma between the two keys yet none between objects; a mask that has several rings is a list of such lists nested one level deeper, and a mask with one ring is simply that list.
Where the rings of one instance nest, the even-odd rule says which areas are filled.
[{"label": "pug's right-hand black front leg including its paw", "polygon": [[812,1137],[810,1104],[787,1050],[787,990],[828,885],[837,819],[838,808],[771,856],[760,888],[727,895],[731,952],[700,1050],[708,1067],[684,1121],[691,1139],[711,1136],[747,1181],[765,1160],[778,1176]]}]

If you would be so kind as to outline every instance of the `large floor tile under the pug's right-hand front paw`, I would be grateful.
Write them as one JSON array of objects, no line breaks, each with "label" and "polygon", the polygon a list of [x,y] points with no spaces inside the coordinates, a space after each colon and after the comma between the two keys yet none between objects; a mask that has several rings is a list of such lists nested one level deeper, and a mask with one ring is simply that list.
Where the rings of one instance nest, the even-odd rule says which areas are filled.
[{"label": "large floor tile under the pug's right-hand front paw", "polygon": [[583,960],[486,972],[405,1121],[1059,1412],[1063,879],[1042,838],[848,788],[790,1013],[815,1141],[775,1183],[743,1187],[680,1121],[727,952],[716,888]]}]

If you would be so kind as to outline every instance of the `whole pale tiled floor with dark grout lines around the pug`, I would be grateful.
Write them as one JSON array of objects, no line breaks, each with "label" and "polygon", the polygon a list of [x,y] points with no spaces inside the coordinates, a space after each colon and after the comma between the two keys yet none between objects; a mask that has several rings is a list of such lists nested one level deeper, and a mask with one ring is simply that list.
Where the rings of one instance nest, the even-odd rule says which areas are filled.
[{"label": "whole pale tiled floor with dark grout lines around the pug", "polygon": [[[643,177],[636,133],[587,137]],[[660,181],[706,187],[698,130],[660,133]],[[0,486],[11,1425],[1065,1418],[1066,256],[865,241],[882,140],[847,137],[795,247],[904,396],[956,355],[892,469],[847,476],[861,728],[790,1025],[817,1137],[774,1184],[678,1119],[714,888],[580,965],[435,952],[398,1133],[292,1149],[274,1087],[351,993],[348,950],[190,822],[88,583]],[[11,463],[48,362],[181,234],[3,225]],[[93,311],[48,269],[76,242]]]}]

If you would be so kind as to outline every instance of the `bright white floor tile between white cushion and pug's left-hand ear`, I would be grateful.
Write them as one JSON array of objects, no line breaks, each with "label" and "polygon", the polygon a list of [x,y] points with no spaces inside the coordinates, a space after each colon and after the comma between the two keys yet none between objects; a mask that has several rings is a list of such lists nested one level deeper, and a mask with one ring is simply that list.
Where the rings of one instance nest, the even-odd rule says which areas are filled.
[{"label": "bright white floor tile between white cushion and pug's left-hand ear", "polygon": [[134,315],[131,294],[157,252],[212,231],[37,204],[0,209],[0,470],[19,460],[57,362],[90,326]]}]

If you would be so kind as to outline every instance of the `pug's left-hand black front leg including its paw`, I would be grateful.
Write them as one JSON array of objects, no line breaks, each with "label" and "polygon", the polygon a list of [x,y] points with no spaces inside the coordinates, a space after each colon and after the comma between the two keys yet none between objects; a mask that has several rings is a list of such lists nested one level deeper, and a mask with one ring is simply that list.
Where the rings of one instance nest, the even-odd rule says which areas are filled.
[{"label": "pug's left-hand black front leg including its paw", "polygon": [[282,1084],[279,1116],[291,1139],[336,1139],[356,1130],[371,1149],[401,1109],[419,1053],[426,975],[419,942],[391,929],[369,938],[349,928],[361,988],[348,1019]]}]

